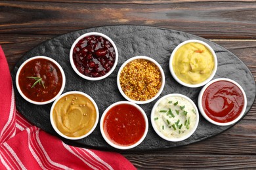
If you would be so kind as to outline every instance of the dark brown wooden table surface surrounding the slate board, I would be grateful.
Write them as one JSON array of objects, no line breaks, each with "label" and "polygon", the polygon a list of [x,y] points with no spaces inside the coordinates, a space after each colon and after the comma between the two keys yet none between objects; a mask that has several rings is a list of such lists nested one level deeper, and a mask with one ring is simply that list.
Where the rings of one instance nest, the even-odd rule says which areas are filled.
[{"label": "dark brown wooden table surface surrounding the slate board", "polygon": [[[177,29],[224,46],[256,76],[256,2],[244,1],[0,1],[0,44],[10,71],[37,44],[102,25]],[[121,152],[138,169],[256,169],[256,103],[242,121],[188,146]]]}]

